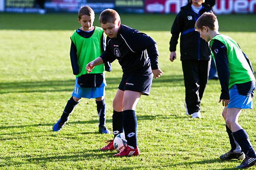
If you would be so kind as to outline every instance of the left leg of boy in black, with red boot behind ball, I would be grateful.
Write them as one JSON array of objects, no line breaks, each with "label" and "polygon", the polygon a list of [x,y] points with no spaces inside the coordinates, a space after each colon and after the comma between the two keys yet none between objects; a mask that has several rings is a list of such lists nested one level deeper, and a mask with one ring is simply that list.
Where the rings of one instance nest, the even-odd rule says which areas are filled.
[{"label": "left leg of boy in black, with red boot behind ball", "polygon": [[[118,89],[116,96],[113,100],[113,115],[112,115],[112,125],[113,125],[113,134],[114,137],[119,133],[123,132],[123,112],[122,112],[122,101],[123,101],[124,91]],[[114,150],[114,141],[107,140],[108,143],[105,147],[102,147],[100,150]]]}]

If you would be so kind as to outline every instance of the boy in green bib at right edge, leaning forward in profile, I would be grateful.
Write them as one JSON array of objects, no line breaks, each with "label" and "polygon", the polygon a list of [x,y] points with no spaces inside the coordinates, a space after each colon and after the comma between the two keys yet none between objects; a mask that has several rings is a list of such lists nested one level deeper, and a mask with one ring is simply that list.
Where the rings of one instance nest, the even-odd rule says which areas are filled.
[{"label": "boy in green bib at right edge, leaning forward in profile", "polygon": [[256,164],[256,155],[247,133],[238,123],[242,109],[252,109],[255,77],[252,65],[238,43],[218,32],[218,20],[212,13],[204,13],[196,21],[195,29],[205,41],[210,41],[212,57],[216,62],[221,85],[219,103],[225,106],[222,116],[231,150],[220,159],[244,159],[238,169]]}]

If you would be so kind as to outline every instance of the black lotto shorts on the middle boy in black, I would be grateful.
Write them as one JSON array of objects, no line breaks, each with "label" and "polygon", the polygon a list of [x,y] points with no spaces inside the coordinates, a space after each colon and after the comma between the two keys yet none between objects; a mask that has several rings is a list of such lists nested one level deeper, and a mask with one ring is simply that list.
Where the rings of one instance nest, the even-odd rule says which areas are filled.
[{"label": "black lotto shorts on the middle boy in black", "polygon": [[137,75],[137,74],[123,74],[122,80],[118,89],[131,90],[134,92],[142,92],[142,95],[149,95],[153,74]]}]

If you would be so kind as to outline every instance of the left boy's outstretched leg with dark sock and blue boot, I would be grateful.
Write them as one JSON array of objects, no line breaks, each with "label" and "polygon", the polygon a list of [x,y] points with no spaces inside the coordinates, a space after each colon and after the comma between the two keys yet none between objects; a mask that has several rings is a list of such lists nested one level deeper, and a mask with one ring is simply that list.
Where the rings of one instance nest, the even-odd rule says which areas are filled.
[{"label": "left boy's outstretched leg with dark sock and blue boot", "polygon": [[59,131],[63,127],[63,125],[66,123],[66,121],[68,121],[68,116],[73,111],[74,107],[76,107],[76,105],[79,103],[80,99],[81,98],[76,98],[76,97],[72,96],[68,100],[60,119],[52,128],[53,131]]}]

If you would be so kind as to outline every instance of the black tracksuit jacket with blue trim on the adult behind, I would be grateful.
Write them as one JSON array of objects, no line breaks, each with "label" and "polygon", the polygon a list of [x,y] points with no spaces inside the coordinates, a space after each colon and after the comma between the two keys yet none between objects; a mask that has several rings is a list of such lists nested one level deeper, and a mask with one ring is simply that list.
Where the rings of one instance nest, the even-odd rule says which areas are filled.
[{"label": "black tracksuit jacket with blue trim on the adult behind", "polygon": [[176,51],[178,38],[180,35],[180,60],[210,60],[210,48],[208,43],[200,38],[200,33],[195,31],[196,20],[204,12],[212,12],[207,4],[202,4],[203,8],[196,14],[191,7],[191,3],[181,7],[172,25],[170,40],[170,51]]}]

